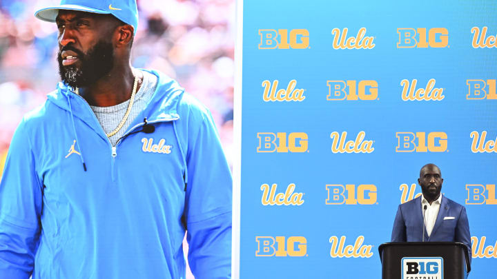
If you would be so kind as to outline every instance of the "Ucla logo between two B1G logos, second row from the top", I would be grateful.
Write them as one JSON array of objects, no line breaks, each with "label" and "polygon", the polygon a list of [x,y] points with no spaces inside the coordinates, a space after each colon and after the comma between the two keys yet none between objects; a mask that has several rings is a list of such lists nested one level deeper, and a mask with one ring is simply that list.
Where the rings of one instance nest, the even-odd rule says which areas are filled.
[{"label": "Ucla logo between two B1G logos, second row from the top", "polygon": [[442,101],[445,98],[443,88],[436,88],[435,82],[435,79],[430,79],[425,88],[416,90],[417,79],[413,79],[410,86],[407,79],[402,79],[402,101]]}]

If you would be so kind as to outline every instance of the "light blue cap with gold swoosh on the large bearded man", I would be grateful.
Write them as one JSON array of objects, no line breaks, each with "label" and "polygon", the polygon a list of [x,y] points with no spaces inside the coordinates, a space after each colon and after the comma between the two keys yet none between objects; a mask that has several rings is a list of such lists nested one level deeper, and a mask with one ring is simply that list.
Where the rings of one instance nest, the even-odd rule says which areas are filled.
[{"label": "light blue cap with gold swoosh on the large bearded man", "polygon": [[124,23],[138,26],[138,9],[135,0],[61,0],[59,6],[43,8],[35,12],[42,21],[55,22],[59,10],[79,10],[95,14],[112,14]]}]

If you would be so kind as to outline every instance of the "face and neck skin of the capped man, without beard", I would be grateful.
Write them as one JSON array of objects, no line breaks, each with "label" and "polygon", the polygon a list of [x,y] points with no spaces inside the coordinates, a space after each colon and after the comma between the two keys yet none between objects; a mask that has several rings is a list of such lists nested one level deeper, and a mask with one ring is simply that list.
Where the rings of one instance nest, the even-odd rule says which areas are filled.
[{"label": "face and neck skin of the capped man, without beard", "polygon": [[[72,10],[59,10],[56,19],[59,28],[59,48],[71,45],[73,48],[88,53],[97,42],[104,40],[114,47],[114,67],[106,76],[96,83],[79,88],[79,94],[88,104],[108,107],[124,103],[130,99],[135,75],[130,63],[130,45],[133,39],[133,26],[121,25],[109,14],[94,14]],[[62,52],[62,57],[77,56],[75,52]],[[65,61],[78,66],[80,61]],[[143,76],[139,76],[137,91],[142,85]]]}]

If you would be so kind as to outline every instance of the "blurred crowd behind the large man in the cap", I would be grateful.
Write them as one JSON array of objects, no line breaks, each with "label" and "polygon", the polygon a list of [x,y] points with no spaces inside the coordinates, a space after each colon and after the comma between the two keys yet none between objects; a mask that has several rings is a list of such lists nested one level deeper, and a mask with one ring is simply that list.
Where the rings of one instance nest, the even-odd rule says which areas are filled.
[{"label": "blurred crowd behind the large man in the cap", "polygon": [[[60,80],[55,23],[36,19],[59,0],[0,0],[0,178],[23,115]],[[213,114],[230,165],[233,146],[233,0],[137,0],[136,68],[162,71]],[[57,119],[53,119],[57,121]]]}]

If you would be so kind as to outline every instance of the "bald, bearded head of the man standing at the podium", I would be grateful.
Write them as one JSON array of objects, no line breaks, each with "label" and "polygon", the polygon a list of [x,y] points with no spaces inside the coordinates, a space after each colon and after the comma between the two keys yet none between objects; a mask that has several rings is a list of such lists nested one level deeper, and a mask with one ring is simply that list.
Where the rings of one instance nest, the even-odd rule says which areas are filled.
[{"label": "bald, bearded head of the man standing at the podium", "polygon": [[420,170],[418,183],[421,186],[423,196],[431,205],[438,199],[440,191],[442,191],[443,178],[440,169],[433,164],[425,165]]}]

